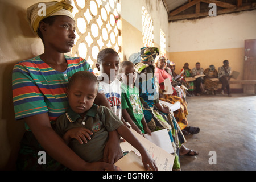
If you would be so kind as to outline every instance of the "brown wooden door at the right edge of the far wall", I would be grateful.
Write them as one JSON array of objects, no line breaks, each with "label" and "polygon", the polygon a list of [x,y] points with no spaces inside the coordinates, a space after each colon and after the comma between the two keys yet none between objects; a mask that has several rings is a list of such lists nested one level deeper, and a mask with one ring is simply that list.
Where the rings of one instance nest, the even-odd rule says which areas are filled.
[{"label": "brown wooden door at the right edge of the far wall", "polygon": [[[256,80],[256,39],[245,40],[243,80]],[[256,93],[255,85],[245,84],[243,93]]]}]

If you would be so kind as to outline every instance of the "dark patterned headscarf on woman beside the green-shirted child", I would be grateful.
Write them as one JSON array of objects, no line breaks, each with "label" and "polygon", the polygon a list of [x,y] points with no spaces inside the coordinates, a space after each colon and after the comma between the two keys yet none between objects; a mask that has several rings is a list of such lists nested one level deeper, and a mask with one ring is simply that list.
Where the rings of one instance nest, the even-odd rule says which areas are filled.
[{"label": "dark patterned headscarf on woman beside the green-shirted child", "polygon": [[156,56],[159,55],[157,47],[143,47],[141,48],[142,61],[154,61]]}]

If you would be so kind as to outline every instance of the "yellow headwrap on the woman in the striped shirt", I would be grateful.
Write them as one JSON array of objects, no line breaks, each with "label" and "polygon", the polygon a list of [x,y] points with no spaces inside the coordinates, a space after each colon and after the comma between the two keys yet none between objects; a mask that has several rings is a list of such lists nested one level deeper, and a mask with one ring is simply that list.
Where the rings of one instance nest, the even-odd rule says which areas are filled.
[{"label": "yellow headwrap on the woman in the striped shirt", "polygon": [[[43,3],[40,4],[39,3]],[[44,18],[47,18],[49,16],[57,16],[57,15],[64,15],[69,16],[75,21],[74,16],[72,15],[73,6],[71,5],[70,0],[61,0],[58,1],[50,1],[50,2],[39,2],[36,3],[27,9],[27,20],[28,23],[30,23],[30,27],[32,31],[38,35],[38,27],[39,22],[42,21]],[[40,16],[40,12],[42,12],[42,9],[46,7],[46,16]]]}]

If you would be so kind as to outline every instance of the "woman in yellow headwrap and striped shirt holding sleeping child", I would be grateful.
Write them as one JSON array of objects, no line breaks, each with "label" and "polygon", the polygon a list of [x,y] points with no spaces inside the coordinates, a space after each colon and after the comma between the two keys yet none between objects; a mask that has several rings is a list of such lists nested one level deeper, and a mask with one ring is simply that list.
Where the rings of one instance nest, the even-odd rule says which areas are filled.
[{"label": "woman in yellow headwrap and striped shirt holding sleeping child", "polygon": [[[68,108],[66,95],[69,78],[77,71],[90,71],[90,65],[80,57],[65,56],[75,40],[75,18],[70,1],[36,3],[27,9],[32,31],[44,43],[44,53],[20,61],[13,69],[13,103],[15,119],[24,119],[26,132],[22,138],[17,169],[19,170],[113,170],[113,163],[122,156],[117,133],[110,133],[105,162],[87,163],[69,148],[55,133],[54,121]],[[42,13],[45,10],[44,13]],[[104,95],[95,100],[109,107]],[[120,149],[120,148],[119,148]],[[45,151],[39,161],[39,151]],[[42,163],[46,161],[46,165]],[[44,163],[43,163],[44,164]]]}]

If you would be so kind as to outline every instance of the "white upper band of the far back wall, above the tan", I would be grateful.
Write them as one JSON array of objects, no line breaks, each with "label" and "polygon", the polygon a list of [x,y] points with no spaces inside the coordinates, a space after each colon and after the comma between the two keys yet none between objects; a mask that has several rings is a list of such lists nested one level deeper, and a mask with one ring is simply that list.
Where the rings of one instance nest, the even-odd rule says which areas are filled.
[{"label": "white upper band of the far back wall, above the tan", "polygon": [[169,23],[170,52],[242,48],[256,39],[256,10]]}]

